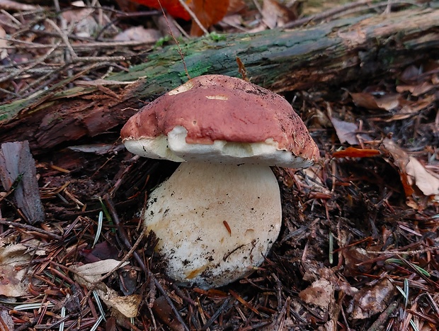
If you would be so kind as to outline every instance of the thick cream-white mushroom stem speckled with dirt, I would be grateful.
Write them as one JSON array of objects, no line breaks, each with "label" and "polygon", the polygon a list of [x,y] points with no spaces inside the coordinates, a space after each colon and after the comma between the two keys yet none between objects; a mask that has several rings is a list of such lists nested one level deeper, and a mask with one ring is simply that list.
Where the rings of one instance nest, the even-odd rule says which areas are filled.
[{"label": "thick cream-white mushroom stem speckled with dirt", "polygon": [[268,166],[183,162],[149,196],[144,221],[172,279],[223,286],[259,266],[278,237],[278,181]]}]

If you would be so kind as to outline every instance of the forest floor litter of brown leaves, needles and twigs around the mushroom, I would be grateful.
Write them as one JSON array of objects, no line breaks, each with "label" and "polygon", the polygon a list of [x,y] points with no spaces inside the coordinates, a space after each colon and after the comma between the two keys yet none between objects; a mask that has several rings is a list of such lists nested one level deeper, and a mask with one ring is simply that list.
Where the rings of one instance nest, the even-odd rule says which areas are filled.
[{"label": "forest floor litter of brown leaves, needles and twigs around the mushroom", "polygon": [[[237,2],[230,1],[229,20],[226,16],[211,26],[224,9],[205,16],[207,28],[233,33],[300,22],[295,20],[300,6],[288,1],[244,4],[244,9]],[[4,102],[39,93],[64,77],[76,81],[59,89],[72,82],[103,89],[109,72],[128,70],[144,52],[168,43],[168,27],[154,28],[152,17],[159,21],[159,11],[123,12],[77,2],[63,3],[57,16],[50,7],[24,9],[13,1],[0,6],[5,10],[0,33],[13,35],[1,39]],[[331,17],[325,15],[312,17]],[[142,26],[139,18],[148,23]],[[190,23],[169,20],[182,35],[192,29],[200,33]],[[95,64],[84,69],[84,62]],[[132,157],[117,132],[98,137],[98,143],[81,140],[36,155],[45,220],[26,223],[8,196],[10,188],[0,192],[2,325],[8,330],[61,330],[61,325],[77,330],[435,330],[438,67],[431,59],[385,80],[294,92],[293,106],[323,159],[306,170],[275,169],[284,215],[278,242],[253,274],[220,289],[173,284],[154,255],[157,238],[142,234],[135,211],[174,164]],[[104,93],[119,97],[110,89]],[[322,102],[322,95],[330,101]],[[105,215],[101,235],[91,247],[100,212]],[[85,280],[92,270],[94,278]]]}]

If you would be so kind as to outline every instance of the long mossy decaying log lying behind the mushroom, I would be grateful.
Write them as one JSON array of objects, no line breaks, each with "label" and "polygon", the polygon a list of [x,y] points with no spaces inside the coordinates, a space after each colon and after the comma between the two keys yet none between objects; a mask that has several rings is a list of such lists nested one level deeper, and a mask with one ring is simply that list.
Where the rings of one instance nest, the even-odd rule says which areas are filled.
[{"label": "long mossy decaying log lying behind the mushroom", "polygon": [[[396,69],[439,54],[439,9],[410,9],[331,21],[298,30],[211,35],[181,45],[191,77],[237,76],[236,57],[251,82],[276,92],[321,84],[349,84],[392,77]],[[29,140],[33,152],[107,133],[144,101],[186,80],[175,46],[152,52],[144,64],[115,74],[105,86],[77,86],[70,77],[38,96],[0,106],[0,140]],[[132,82],[132,84],[116,84]]]}]

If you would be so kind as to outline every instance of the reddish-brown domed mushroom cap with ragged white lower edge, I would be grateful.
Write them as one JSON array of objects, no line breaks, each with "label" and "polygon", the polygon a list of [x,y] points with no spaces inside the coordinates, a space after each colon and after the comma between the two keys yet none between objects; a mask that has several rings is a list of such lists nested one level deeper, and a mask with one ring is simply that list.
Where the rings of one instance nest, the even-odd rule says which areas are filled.
[{"label": "reddish-brown domed mushroom cap with ragged white lower edge", "polygon": [[[184,138],[180,153],[172,150],[170,135]],[[180,162],[198,159],[188,156],[200,154],[191,145],[204,145],[203,152],[223,156],[227,143],[236,144],[232,150],[244,144],[241,150],[268,147],[271,154],[281,155],[280,164],[272,162],[275,157],[263,164],[308,167],[319,159],[317,145],[290,103],[268,89],[223,75],[195,77],[160,96],[128,120],[121,136],[127,149],[136,154]],[[136,144],[139,141],[141,145]],[[217,142],[221,146],[212,147],[212,152],[207,146]],[[149,148],[152,152],[145,150]]]}]

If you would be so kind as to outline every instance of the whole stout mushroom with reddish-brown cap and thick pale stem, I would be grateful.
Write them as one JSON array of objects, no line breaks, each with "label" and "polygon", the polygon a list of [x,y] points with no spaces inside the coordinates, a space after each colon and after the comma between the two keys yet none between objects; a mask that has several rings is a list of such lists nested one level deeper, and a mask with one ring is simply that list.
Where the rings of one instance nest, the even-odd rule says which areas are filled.
[{"label": "whole stout mushroom with reddish-brown cap and thick pale stem", "polygon": [[122,128],[127,150],[182,162],[142,213],[178,284],[224,286],[263,262],[282,223],[270,166],[304,168],[319,150],[282,96],[206,75],[160,96]]}]

